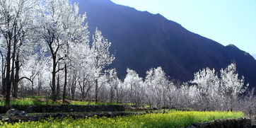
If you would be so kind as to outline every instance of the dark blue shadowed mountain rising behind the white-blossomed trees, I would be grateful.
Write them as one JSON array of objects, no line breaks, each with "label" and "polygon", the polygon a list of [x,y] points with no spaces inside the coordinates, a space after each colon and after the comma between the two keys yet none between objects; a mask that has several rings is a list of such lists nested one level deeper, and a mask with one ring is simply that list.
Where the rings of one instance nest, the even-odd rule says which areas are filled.
[{"label": "dark blue shadowed mountain rising behind the white-blossomed trees", "polygon": [[256,85],[256,61],[234,45],[223,46],[214,40],[192,33],[160,14],[136,11],[110,0],[73,0],[79,2],[81,13],[87,13],[91,33],[98,27],[112,42],[120,78],[126,69],[140,76],[157,66],[175,79],[187,81],[195,71],[210,67],[221,69],[235,62],[238,73]]}]

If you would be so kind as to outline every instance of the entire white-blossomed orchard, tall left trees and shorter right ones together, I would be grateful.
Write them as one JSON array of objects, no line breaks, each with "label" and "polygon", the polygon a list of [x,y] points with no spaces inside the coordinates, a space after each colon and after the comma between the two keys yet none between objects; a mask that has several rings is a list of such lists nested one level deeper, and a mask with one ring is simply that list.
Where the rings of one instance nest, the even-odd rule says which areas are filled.
[{"label": "entire white-blossomed orchard, tall left trees and shorter right ones together", "polygon": [[[94,29],[94,28],[93,28]],[[92,38],[91,38],[92,37]],[[124,80],[110,69],[115,56],[95,28],[90,36],[86,13],[69,0],[0,0],[1,93],[6,107],[11,96],[46,95],[95,103],[131,103],[135,107],[247,110],[255,97],[247,94],[235,64],[202,69],[192,81],[177,83],[161,67],[141,78],[127,69]]]}]

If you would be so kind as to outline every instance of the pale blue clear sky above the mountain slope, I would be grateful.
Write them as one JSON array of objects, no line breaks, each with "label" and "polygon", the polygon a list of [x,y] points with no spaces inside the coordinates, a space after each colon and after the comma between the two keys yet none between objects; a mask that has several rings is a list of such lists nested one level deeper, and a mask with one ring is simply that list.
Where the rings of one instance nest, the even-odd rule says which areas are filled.
[{"label": "pale blue clear sky above the mountain slope", "polygon": [[187,30],[222,45],[256,54],[256,0],[111,0],[160,13]]}]

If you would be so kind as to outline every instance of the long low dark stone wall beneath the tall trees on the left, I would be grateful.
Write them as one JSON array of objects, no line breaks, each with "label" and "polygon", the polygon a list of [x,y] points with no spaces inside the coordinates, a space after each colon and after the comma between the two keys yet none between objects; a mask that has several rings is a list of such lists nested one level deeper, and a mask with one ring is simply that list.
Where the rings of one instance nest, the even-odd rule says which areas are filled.
[{"label": "long low dark stone wall beneath the tall trees on the left", "polygon": [[[124,111],[124,106],[122,105],[12,105],[11,107],[27,113]],[[6,112],[6,108],[1,106],[0,113]]]}]

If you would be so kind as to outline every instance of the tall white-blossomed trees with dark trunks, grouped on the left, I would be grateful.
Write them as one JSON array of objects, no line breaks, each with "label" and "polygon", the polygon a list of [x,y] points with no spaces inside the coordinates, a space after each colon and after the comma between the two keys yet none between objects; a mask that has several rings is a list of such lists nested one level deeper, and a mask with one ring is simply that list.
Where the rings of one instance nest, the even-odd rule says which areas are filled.
[{"label": "tall white-blossomed trees with dark trunks, grouped on the left", "polygon": [[[110,42],[96,29],[90,45],[86,14],[69,0],[0,0],[1,85],[10,107],[10,96],[18,98],[18,86],[37,93],[50,87],[52,100],[67,85],[74,98],[79,85],[83,95],[95,86],[105,66],[115,59]],[[89,79],[89,80],[88,80]],[[92,80],[93,79],[93,80]],[[90,82],[91,83],[90,83]]]}]

